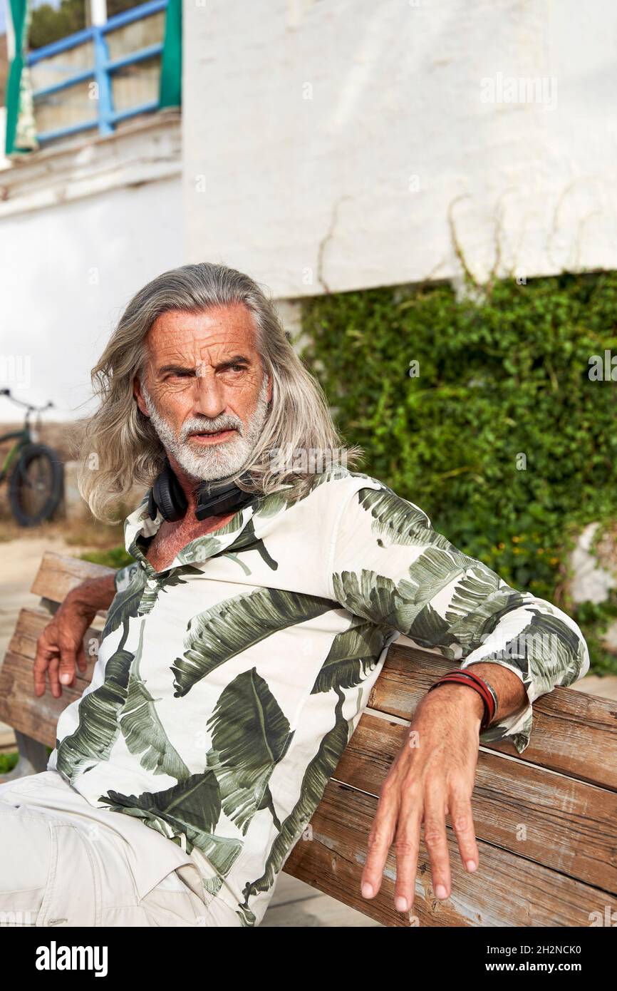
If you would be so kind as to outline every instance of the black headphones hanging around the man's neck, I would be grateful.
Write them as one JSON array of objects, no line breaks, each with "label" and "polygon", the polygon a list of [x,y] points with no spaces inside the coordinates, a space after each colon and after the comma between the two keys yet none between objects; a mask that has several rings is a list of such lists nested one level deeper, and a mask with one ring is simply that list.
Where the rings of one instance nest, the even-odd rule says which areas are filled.
[{"label": "black headphones hanging around the man's neck", "polygon": [[[239,481],[250,482],[250,474],[245,473]],[[243,489],[239,489],[235,482],[229,482],[226,479],[215,483],[202,482],[197,490],[195,516],[197,519],[205,519],[206,516],[222,515],[229,512],[230,509],[240,509],[255,497],[255,493],[247,493]],[[165,458],[164,467],[154,480],[154,485],[148,496],[150,518],[155,519],[156,512],[160,511],[163,519],[169,519],[172,522],[181,519],[186,512],[187,504],[184,490]]]}]

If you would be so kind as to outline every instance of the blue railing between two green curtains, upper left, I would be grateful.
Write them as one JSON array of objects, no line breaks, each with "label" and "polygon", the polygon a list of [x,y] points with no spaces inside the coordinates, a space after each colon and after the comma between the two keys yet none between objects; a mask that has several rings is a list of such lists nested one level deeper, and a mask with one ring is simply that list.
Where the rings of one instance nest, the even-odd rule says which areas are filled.
[{"label": "blue railing between two green curtains, upper left", "polygon": [[138,52],[132,52],[130,55],[110,59],[106,35],[111,31],[116,31],[118,28],[124,28],[127,24],[132,24],[134,21],[141,21],[146,17],[151,17],[153,14],[165,10],[166,6],[167,0],[149,0],[148,3],[143,3],[139,7],[133,7],[131,10],[126,10],[122,14],[116,14],[106,24],[86,28],[84,31],[77,31],[74,35],[61,38],[58,42],[45,45],[43,48],[37,49],[28,55],[28,64],[37,65],[46,58],[50,58],[51,55],[68,52],[69,49],[74,49],[79,45],[85,45],[88,42],[92,42],[94,50],[94,63],[92,66],[75,72],[72,75],[65,76],[61,82],[55,82],[51,86],[36,89],[33,97],[35,100],[38,100],[41,97],[52,96],[54,93],[59,93],[61,90],[67,89],[69,86],[74,86],[76,83],[94,79],[98,86],[98,99],[96,100],[98,108],[97,116],[90,120],[81,121],[78,124],[71,124],[68,127],[45,131],[43,134],[37,135],[41,144],[51,141],[53,138],[78,134],[80,131],[88,131],[97,127],[100,134],[112,134],[119,121],[158,109],[158,101],[153,100],[150,103],[142,103],[139,106],[130,107],[126,110],[114,110],[112,73],[118,69],[125,68],[126,65],[133,65],[136,62],[144,61],[146,58],[153,58],[154,55],[160,55],[162,44],[149,45],[148,48],[140,49]]}]

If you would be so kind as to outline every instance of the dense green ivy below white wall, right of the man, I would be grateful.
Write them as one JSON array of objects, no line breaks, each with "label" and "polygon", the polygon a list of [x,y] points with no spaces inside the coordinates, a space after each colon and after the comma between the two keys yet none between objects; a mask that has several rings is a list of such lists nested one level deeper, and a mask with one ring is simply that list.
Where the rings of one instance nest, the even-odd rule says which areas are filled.
[{"label": "dense green ivy below white wall, right of the man", "polygon": [[615,516],[614,385],[589,359],[617,354],[617,273],[497,281],[479,301],[435,284],[327,294],[303,302],[302,329],[361,470],[509,584],[559,600],[593,669],[617,671],[598,639],[615,604],[560,598],[576,532]]}]

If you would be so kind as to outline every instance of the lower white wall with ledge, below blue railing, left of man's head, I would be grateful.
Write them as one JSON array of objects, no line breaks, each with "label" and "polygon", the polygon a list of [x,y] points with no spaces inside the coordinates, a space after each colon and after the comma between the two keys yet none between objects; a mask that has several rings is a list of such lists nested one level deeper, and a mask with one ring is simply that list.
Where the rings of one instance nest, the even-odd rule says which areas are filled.
[{"label": "lower white wall with ledge, below blue railing, left of man's head", "polygon": [[[179,122],[0,171],[0,386],[73,419],[131,296],[184,263]],[[0,397],[0,422],[20,414]]]}]

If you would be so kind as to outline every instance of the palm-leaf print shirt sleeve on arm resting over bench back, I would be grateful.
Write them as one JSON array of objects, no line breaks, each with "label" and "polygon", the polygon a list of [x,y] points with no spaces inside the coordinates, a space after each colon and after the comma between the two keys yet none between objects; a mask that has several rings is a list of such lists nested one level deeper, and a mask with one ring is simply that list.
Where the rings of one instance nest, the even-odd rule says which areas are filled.
[{"label": "palm-leaf print shirt sleeve on arm resting over bench back", "polygon": [[462,668],[482,661],[513,671],[527,703],[480,742],[510,739],[522,753],[534,700],[589,669],[579,627],[557,606],[511,588],[437,533],[417,505],[373,482],[346,497],[339,514],[328,565],[334,600]]}]

